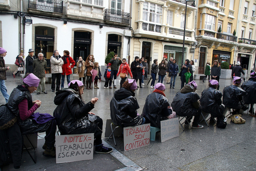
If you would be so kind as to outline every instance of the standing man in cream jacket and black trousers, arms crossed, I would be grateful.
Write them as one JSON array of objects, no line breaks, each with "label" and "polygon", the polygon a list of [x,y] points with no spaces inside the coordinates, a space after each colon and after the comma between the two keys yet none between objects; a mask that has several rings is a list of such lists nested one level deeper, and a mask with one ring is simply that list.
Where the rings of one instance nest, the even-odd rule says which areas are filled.
[{"label": "standing man in cream jacket and black trousers, arms crossed", "polygon": [[56,80],[56,91],[60,90],[61,86],[61,74],[62,65],[64,64],[59,51],[55,50],[53,56],[51,56],[51,71],[52,71],[52,92],[55,92],[55,80]]}]

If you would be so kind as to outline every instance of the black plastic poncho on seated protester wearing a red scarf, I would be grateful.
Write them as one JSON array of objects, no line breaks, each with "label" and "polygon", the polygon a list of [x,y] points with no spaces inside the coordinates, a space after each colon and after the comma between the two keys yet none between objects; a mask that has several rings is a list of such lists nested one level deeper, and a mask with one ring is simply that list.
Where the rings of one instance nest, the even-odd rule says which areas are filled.
[{"label": "black plastic poncho on seated protester wearing a red scarf", "polygon": [[142,116],[146,119],[145,123],[150,123],[152,127],[161,128],[161,121],[167,120],[170,113],[163,113],[162,109],[170,106],[164,95],[153,92],[146,98]]}]

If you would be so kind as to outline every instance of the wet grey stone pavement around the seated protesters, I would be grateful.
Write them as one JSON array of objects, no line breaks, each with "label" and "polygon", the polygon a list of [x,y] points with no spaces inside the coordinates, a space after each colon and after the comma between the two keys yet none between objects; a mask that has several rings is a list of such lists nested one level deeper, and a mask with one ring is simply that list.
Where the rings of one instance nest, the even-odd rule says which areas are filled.
[{"label": "wet grey stone pavement around the seated protesters", "polygon": [[[71,76],[72,79],[78,79],[78,77],[74,75]],[[148,80],[144,80],[145,85],[147,82]],[[180,90],[180,82],[179,77],[177,77],[175,89],[170,89],[170,84],[165,84],[166,98],[170,103]],[[205,83],[202,80],[196,80],[196,83],[198,84],[196,92],[201,96],[201,92],[208,87],[208,80],[205,80]],[[220,91],[222,92],[224,86],[229,86],[231,83],[231,80],[220,79]],[[20,84],[18,77],[16,79],[8,77],[6,81],[8,93],[10,94],[18,84]],[[65,87],[67,87],[66,80]],[[82,97],[85,102],[89,102],[93,97],[99,98],[92,112],[103,119],[102,135],[104,135],[106,120],[110,119],[109,103],[117,89],[104,89],[104,82],[98,83],[98,87],[100,89],[85,89]],[[118,85],[117,88],[120,86]],[[143,86],[143,88],[135,91],[135,97],[140,107],[138,109],[139,114],[143,110],[147,95],[153,90],[149,86]],[[46,91],[48,94],[32,93],[32,98],[42,101],[37,112],[53,114],[56,106],[53,103],[55,93],[51,92],[51,84],[46,84]],[[0,94],[0,104],[4,104],[4,102],[4,98]],[[219,129],[216,125],[207,127],[205,123],[201,123],[204,125],[203,129],[185,128],[185,131],[182,131],[180,127],[180,137],[163,143],[161,143],[160,133],[157,133],[156,141],[150,141],[149,146],[130,151],[124,151],[123,137],[117,137],[118,145],[116,147],[113,139],[104,140],[115,147],[120,154],[124,154],[141,168],[149,171],[256,170],[256,135],[254,133],[256,120],[250,117],[247,111],[242,117],[246,120],[245,124],[234,124],[228,119],[226,129]]]}]

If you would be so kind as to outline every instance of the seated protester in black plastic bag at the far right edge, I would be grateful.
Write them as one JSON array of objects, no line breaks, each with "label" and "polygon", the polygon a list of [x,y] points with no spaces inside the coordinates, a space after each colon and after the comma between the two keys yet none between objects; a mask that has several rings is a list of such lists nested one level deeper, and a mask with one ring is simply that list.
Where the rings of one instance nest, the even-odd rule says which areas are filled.
[{"label": "seated protester in black plastic bag at the far right edge", "polygon": [[253,105],[256,103],[256,72],[251,71],[250,73],[251,78],[248,81],[245,81],[241,88],[246,91],[246,94],[243,96],[243,101],[245,104],[250,104],[251,116],[256,117],[253,111]]}]

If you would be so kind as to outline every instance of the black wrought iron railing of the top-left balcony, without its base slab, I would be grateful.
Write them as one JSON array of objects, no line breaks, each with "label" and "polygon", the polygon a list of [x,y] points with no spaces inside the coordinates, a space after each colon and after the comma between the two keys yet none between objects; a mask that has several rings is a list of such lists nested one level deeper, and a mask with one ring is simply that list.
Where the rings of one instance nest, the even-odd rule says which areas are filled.
[{"label": "black wrought iron railing of the top-left balcony, without its base slab", "polygon": [[28,0],[28,8],[62,13],[62,0]]}]

